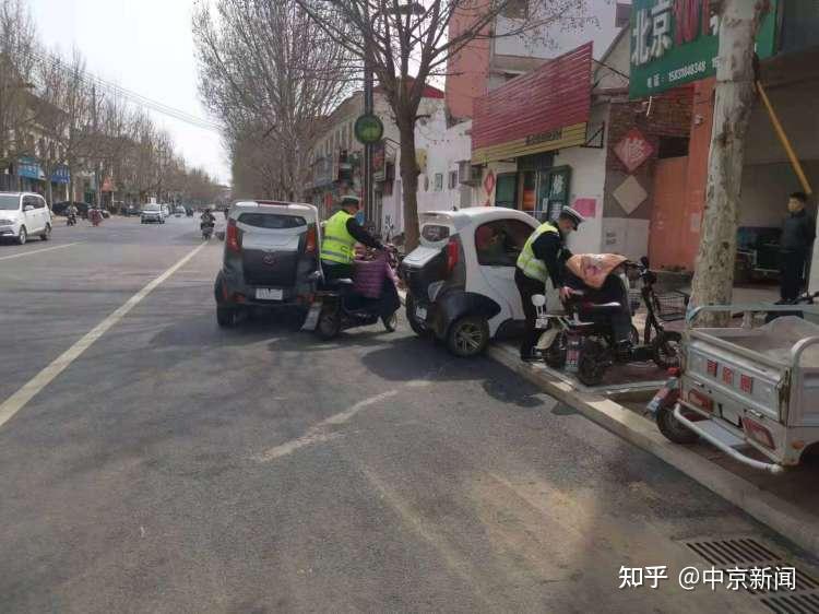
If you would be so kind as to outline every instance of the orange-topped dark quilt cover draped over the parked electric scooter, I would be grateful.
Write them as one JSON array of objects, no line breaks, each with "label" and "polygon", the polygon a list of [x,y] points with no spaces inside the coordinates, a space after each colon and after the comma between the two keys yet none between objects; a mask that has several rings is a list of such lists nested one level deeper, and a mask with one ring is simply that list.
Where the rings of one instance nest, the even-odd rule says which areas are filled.
[{"label": "orange-topped dark quilt cover draped over the parked electric scooter", "polygon": [[[628,286],[617,274],[626,261],[625,257],[614,253],[572,256],[566,262],[563,286],[560,290],[560,296],[565,300],[573,295],[582,295],[578,308],[581,320],[612,327],[612,336],[620,358],[628,358],[632,350]],[[584,304],[617,304],[620,308],[595,312],[593,309],[584,309]]]}]

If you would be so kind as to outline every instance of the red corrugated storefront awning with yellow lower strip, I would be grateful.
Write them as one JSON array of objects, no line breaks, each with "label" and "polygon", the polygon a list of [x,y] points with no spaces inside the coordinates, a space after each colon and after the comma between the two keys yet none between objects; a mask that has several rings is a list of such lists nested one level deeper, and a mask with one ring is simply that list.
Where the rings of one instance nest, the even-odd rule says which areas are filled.
[{"label": "red corrugated storefront awning with yellow lower strip", "polygon": [[473,164],[585,143],[591,79],[592,44],[587,43],[478,98]]}]

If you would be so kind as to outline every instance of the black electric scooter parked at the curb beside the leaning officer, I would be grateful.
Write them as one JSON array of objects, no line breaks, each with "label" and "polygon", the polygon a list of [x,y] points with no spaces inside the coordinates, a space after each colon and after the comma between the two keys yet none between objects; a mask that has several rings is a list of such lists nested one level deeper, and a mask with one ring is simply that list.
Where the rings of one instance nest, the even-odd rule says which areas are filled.
[{"label": "black electric scooter parked at the curb beside the leaning officer", "polygon": [[[640,295],[648,310],[643,343],[633,326],[628,347],[618,347],[615,342],[607,316],[622,309],[619,303],[589,303],[585,293],[578,291],[566,303],[565,314],[547,314],[546,298],[543,295],[532,298],[537,309],[536,326],[544,330],[538,343],[544,361],[553,368],[577,373],[585,386],[598,386],[606,370],[616,363],[653,361],[663,369],[679,365],[681,335],[665,330],[661,319],[668,321],[685,317],[687,297],[682,293],[657,295],[654,290],[656,275],[649,269],[648,259],[643,258],[640,263],[627,261],[624,265],[636,269],[643,284]],[[624,280],[624,283],[627,282]],[[639,305],[636,303],[629,307],[633,311]]]}]

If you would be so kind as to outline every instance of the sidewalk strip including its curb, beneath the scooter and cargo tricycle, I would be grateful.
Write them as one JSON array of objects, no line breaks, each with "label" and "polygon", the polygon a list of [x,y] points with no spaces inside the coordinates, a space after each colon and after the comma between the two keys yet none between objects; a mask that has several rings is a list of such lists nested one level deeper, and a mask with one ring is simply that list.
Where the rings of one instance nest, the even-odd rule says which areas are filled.
[{"label": "sidewalk strip including its curb, beneath the scooter and cargo tricycle", "polygon": [[653,420],[642,415],[651,397],[650,387],[638,387],[631,395],[624,394],[620,387],[590,390],[543,365],[521,362],[518,350],[511,345],[492,345],[488,354],[550,397],[661,458],[819,556],[818,467],[805,465],[776,476],[743,465],[707,444],[678,446],[660,434]]}]

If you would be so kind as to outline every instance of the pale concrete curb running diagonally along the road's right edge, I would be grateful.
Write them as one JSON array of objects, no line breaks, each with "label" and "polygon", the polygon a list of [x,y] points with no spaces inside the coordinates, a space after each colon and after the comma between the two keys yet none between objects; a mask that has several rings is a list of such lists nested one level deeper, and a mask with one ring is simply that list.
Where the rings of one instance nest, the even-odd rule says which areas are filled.
[{"label": "pale concrete curb running diagonally along the road's right edge", "polygon": [[568,382],[549,376],[545,369],[522,363],[513,349],[494,345],[487,354],[550,397],[578,410],[592,422],[622,439],[651,452],[799,547],[814,556],[819,556],[819,518],[696,452],[672,444],[660,434],[653,422],[628,408],[597,394],[575,390]]}]

